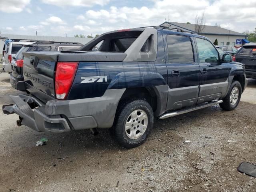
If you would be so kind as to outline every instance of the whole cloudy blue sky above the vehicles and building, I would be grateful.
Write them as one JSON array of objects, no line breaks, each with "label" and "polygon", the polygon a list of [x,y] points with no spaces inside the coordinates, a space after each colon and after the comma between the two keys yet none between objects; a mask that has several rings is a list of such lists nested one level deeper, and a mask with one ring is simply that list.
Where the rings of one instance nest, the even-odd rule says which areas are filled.
[{"label": "whole cloudy blue sky above the vehicles and building", "polygon": [[194,23],[244,32],[256,28],[256,0],[0,0],[1,34],[95,36],[111,30]]}]

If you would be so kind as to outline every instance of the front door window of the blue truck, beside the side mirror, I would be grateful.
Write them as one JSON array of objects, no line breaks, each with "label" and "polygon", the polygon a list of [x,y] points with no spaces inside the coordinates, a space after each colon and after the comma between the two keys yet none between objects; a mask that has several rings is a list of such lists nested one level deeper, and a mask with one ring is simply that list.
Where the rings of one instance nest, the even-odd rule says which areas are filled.
[{"label": "front door window of the blue truck, beside the side mirror", "polygon": [[196,38],[196,44],[200,63],[218,62],[219,54],[208,40]]}]

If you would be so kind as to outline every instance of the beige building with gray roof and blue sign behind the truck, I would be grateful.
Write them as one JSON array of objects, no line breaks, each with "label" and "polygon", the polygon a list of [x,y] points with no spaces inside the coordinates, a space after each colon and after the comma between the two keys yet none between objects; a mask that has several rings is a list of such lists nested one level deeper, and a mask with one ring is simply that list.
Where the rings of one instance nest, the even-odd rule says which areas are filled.
[{"label": "beige building with gray roof and blue sign behind the truck", "polygon": [[[177,22],[164,22],[160,24],[160,26],[170,26],[172,28],[178,27],[184,30],[190,30],[192,32],[195,32],[196,25],[186,24],[186,23],[177,23]],[[202,31],[202,33],[200,33],[200,35],[207,37],[212,42],[214,42],[217,39],[218,45],[241,46],[242,44],[248,43],[248,40],[246,40],[245,34],[238,33],[238,32],[224,29],[217,26],[205,25],[204,30]]]}]

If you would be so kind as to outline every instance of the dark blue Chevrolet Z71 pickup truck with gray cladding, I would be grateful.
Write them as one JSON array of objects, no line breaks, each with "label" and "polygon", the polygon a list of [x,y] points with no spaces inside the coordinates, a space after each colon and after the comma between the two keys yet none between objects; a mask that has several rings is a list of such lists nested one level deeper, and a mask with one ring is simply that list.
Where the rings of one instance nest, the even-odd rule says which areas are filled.
[{"label": "dark blue Chevrolet Z71 pickup truck with gray cladding", "polygon": [[[93,51],[97,46],[98,50]],[[78,51],[24,52],[24,81],[6,114],[40,132],[111,128],[117,142],[142,144],[154,118],[215,104],[238,106],[244,64],[197,34],[145,27],[98,36]]]}]

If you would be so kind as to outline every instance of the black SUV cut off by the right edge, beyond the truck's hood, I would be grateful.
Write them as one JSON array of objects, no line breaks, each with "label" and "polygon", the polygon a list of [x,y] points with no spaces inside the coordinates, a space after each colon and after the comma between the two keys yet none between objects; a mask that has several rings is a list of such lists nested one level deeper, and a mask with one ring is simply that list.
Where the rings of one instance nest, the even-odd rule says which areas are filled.
[{"label": "black SUV cut off by the right edge, beyond the truck's hood", "polygon": [[245,64],[246,77],[256,79],[256,44],[243,45],[233,56],[233,61]]}]

